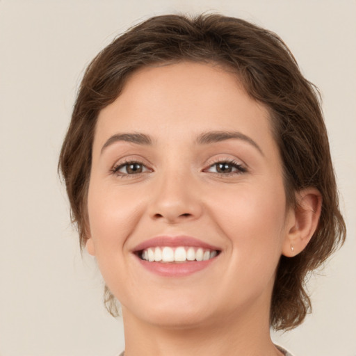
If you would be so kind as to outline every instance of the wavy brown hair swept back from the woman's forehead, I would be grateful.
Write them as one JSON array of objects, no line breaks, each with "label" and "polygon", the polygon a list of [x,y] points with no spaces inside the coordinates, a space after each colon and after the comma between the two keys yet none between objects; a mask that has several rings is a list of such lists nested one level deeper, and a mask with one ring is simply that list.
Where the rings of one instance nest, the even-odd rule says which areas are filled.
[{"label": "wavy brown hair swept back from the woman's forehead", "polygon": [[[296,327],[311,307],[305,277],[343,243],[346,227],[318,92],[275,33],[243,19],[152,17],[115,39],[92,60],[81,82],[58,165],[81,246],[88,228],[86,197],[99,111],[120,95],[129,75],[139,67],[181,60],[223,65],[238,76],[251,97],[269,109],[288,204],[295,205],[295,192],[306,187],[317,188],[323,197],[321,218],[307,248],[293,258],[282,256],[277,268],[270,325],[276,330]],[[114,298],[106,292],[108,310],[114,314]]]}]

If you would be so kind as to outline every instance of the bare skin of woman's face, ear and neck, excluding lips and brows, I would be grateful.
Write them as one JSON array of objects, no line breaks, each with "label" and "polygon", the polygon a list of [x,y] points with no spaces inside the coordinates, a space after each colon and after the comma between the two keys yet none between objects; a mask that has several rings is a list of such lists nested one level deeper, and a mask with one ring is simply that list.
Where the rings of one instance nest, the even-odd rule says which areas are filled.
[{"label": "bare skin of woman's face, ear and neck, excluding lips and brows", "polygon": [[[241,138],[195,142],[210,131],[238,131],[259,148]],[[152,145],[108,142],[120,133],[143,133]],[[127,171],[129,161],[142,172]],[[225,161],[242,170],[221,172]],[[97,121],[86,244],[122,304],[125,355],[282,355],[269,333],[275,270],[281,254],[307,245],[321,205],[315,190],[299,197],[303,213],[286,207],[268,110],[236,76],[200,63],[135,72]],[[132,252],[181,234],[220,254],[197,273],[164,277]]]}]

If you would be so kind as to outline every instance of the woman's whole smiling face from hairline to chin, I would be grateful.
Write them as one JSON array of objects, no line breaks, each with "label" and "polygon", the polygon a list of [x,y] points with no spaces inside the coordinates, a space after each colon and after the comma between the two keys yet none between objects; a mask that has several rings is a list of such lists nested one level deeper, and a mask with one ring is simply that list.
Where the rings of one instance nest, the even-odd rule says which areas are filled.
[{"label": "woman's whole smiling face from hairline to chin", "polygon": [[99,114],[88,216],[124,318],[268,314],[293,220],[268,111],[217,66],[138,70]]}]

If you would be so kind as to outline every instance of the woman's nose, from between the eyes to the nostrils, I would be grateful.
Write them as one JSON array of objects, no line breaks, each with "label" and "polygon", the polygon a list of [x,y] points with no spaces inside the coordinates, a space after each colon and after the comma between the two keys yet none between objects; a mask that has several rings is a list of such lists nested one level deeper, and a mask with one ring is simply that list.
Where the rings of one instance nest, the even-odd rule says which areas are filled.
[{"label": "woman's nose, from between the eyes to the nostrils", "polygon": [[199,184],[189,174],[162,175],[155,182],[149,216],[169,224],[195,220],[202,215]]}]

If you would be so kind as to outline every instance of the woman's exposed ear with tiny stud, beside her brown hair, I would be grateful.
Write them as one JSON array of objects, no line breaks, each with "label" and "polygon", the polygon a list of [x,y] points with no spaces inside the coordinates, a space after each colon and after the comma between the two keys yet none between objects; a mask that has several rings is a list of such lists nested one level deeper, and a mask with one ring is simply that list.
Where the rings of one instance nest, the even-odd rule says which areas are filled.
[{"label": "woman's exposed ear with tiny stud, beside her brown hair", "polygon": [[323,199],[316,188],[296,193],[296,209],[290,211],[289,226],[282,246],[282,254],[294,257],[305,249],[318,227]]}]

